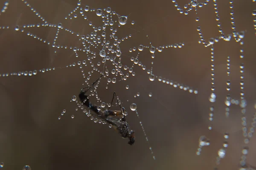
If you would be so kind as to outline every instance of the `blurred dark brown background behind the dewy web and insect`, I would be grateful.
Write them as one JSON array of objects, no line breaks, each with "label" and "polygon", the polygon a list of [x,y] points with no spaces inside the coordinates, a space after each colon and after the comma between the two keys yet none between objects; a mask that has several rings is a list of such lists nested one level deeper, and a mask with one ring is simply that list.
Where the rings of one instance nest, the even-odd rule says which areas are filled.
[{"label": "blurred dark brown background behind the dewy web and insect", "polygon": [[[4,2],[0,0],[1,8]],[[177,2],[183,7],[189,0]],[[29,0],[28,3],[49,23],[62,23],[65,28],[85,35],[92,31],[88,21],[79,15],[80,10],[76,12],[77,19],[64,19],[76,7],[76,0]],[[64,66],[87,59],[87,56],[79,53],[76,58],[72,50],[55,49],[25,33],[15,31],[17,25],[42,21],[22,1],[10,0],[7,11],[0,15],[0,26],[11,27],[0,29],[0,73],[62,68],[32,77],[0,77],[0,162],[5,164],[3,169],[21,170],[27,164],[32,170],[212,170],[224,141],[224,132],[230,133],[229,147],[218,167],[220,170],[238,168],[244,138],[239,106],[232,105],[230,118],[226,119],[224,115],[226,59],[227,56],[231,58],[231,95],[236,99],[239,99],[240,94],[239,64],[244,62],[247,123],[250,125],[251,116],[255,112],[256,94],[256,37],[252,16],[256,3],[252,0],[234,2],[236,30],[247,31],[244,59],[239,58],[241,46],[233,39],[230,42],[220,40],[214,45],[217,101],[213,104],[215,115],[211,131],[207,129],[209,107],[212,105],[208,100],[211,88],[210,48],[198,44],[196,28],[201,26],[206,40],[219,36],[212,0],[207,6],[198,9],[199,22],[195,21],[194,11],[187,16],[180,14],[171,0],[83,0],[82,7],[85,5],[96,9],[111,7],[121,15],[131,13],[128,23],[118,28],[117,33],[120,37],[132,34],[130,39],[120,45],[122,54],[126,55],[122,57],[123,65],[133,64],[129,57],[136,57],[137,53],[129,53],[128,50],[134,46],[149,45],[150,41],[156,47],[184,42],[183,48],[168,48],[161,53],[157,52],[153,60],[153,73],[192,86],[199,93],[190,94],[157,80],[150,82],[146,71],[137,65],[134,66],[134,77],[130,75],[127,81],[111,83],[107,90],[107,81],[102,79],[98,88],[99,97],[105,102],[111,102],[113,91],[116,91],[129,111],[127,119],[137,139],[130,146],[127,140],[122,139],[108,125],[94,123],[81,110],[75,111],[76,103],[70,102],[71,97],[78,95],[84,87],[84,78],[77,66]],[[218,9],[224,33],[231,34],[229,0],[219,0]],[[94,12],[85,15],[92,22],[100,21]],[[132,20],[136,23],[134,26],[131,25]],[[56,28],[26,28],[26,31],[52,43]],[[64,30],[60,31],[56,44],[81,47],[79,38]],[[151,56],[145,50],[139,60],[146,65],[147,70],[150,69]],[[109,71],[112,67],[108,62]],[[83,69],[87,77],[87,72],[92,68]],[[93,74],[90,83],[99,75]],[[125,85],[130,88],[127,90]],[[140,96],[134,98],[137,92],[140,92]],[[152,97],[148,96],[149,92],[152,92]],[[129,109],[133,102],[137,104],[137,111],[156,156],[155,161],[141,130],[140,120]],[[63,109],[67,113],[61,116]],[[74,119],[71,119],[72,114],[75,115]],[[60,120],[58,116],[61,116]],[[207,136],[211,144],[203,147],[201,155],[196,156],[201,135]],[[247,163],[254,166],[255,141],[253,136],[247,159]]]}]

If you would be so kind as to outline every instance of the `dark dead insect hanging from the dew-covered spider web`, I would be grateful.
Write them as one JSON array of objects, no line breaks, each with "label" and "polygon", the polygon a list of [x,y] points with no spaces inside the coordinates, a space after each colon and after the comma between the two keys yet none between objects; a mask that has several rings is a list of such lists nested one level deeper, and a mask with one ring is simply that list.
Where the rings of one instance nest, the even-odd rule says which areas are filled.
[{"label": "dark dead insect hanging from the dew-covered spider web", "polygon": [[[103,74],[102,74],[103,76]],[[101,76],[101,77],[102,77]],[[101,78],[99,77],[99,79]],[[111,105],[108,107],[108,109],[99,109],[98,105],[93,105],[91,102],[89,102],[89,97],[86,95],[86,92],[94,86],[94,84],[99,80],[97,79],[95,82],[92,83],[92,85],[81,89],[79,94],[79,99],[82,102],[83,105],[87,106],[89,109],[91,109],[94,113],[96,113],[97,116],[100,116],[102,119],[105,119],[108,123],[112,125],[112,127],[118,131],[119,135],[123,138],[128,138],[129,142],[128,144],[134,144],[135,142],[135,136],[134,131],[131,130],[128,122],[126,121],[125,116],[127,115],[126,109],[122,107],[119,99],[116,96],[116,93],[113,93],[113,98],[111,101],[111,105],[113,102],[114,97],[116,97],[118,105],[120,107],[120,111],[112,111]],[[86,90],[84,90],[86,89]]]}]

